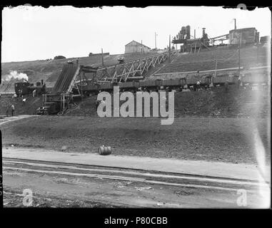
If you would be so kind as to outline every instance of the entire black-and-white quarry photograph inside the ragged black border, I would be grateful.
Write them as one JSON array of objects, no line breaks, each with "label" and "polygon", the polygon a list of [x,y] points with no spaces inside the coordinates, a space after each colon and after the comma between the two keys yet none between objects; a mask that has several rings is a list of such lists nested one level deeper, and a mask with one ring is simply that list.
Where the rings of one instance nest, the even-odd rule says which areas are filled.
[{"label": "entire black-and-white quarry photograph inside the ragged black border", "polygon": [[271,209],[271,9],[1,13],[4,208]]}]

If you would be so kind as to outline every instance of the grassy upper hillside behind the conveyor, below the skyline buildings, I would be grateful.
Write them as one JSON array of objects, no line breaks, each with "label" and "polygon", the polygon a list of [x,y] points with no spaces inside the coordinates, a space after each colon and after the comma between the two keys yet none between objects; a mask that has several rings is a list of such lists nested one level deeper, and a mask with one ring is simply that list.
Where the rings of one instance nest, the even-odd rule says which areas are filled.
[{"label": "grassy upper hillside behind the conveyor, below the skyline buildings", "polygon": [[[125,61],[128,62],[153,54],[156,53],[127,53],[104,56],[104,66],[117,64],[117,58],[120,56],[124,56]],[[268,57],[267,48],[259,47],[257,49],[256,46],[241,48],[241,66],[245,68],[268,66]],[[11,71],[18,71],[19,73],[26,73],[30,83],[36,83],[43,79],[47,87],[53,87],[61,73],[64,63],[72,59],[76,58],[1,63],[1,76],[2,79],[5,79]],[[79,63],[84,66],[101,66],[101,56],[81,57],[79,58]],[[207,71],[214,70],[215,68],[222,69],[235,67],[238,67],[237,48],[213,48],[210,51],[206,50],[199,53],[178,53],[178,56],[175,56],[171,63],[166,61],[155,68],[150,68],[148,73],[146,73],[146,77],[151,76],[153,73],[162,74],[187,71]],[[156,79],[156,76],[153,75],[151,79]],[[1,83],[0,93],[9,93],[13,91],[14,82],[4,81]]]}]

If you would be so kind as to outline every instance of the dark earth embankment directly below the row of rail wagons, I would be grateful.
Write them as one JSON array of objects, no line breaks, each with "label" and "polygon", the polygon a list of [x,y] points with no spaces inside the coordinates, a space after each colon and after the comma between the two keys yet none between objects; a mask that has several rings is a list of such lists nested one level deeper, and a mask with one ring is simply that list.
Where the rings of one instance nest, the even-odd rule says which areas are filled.
[{"label": "dark earth embankment directly below the row of rail wagons", "polygon": [[[82,102],[78,102],[76,108],[68,110],[66,115],[97,116],[95,101],[96,96],[84,98]],[[16,115],[32,115],[36,108],[42,105],[42,98],[26,96],[26,104],[24,104],[21,98],[12,99],[3,95],[0,98],[0,115],[5,115],[7,104],[15,105]],[[186,115],[267,118],[270,115],[268,88],[245,90],[230,86],[229,93],[225,93],[223,87],[198,92],[175,93],[175,116]]]}]

